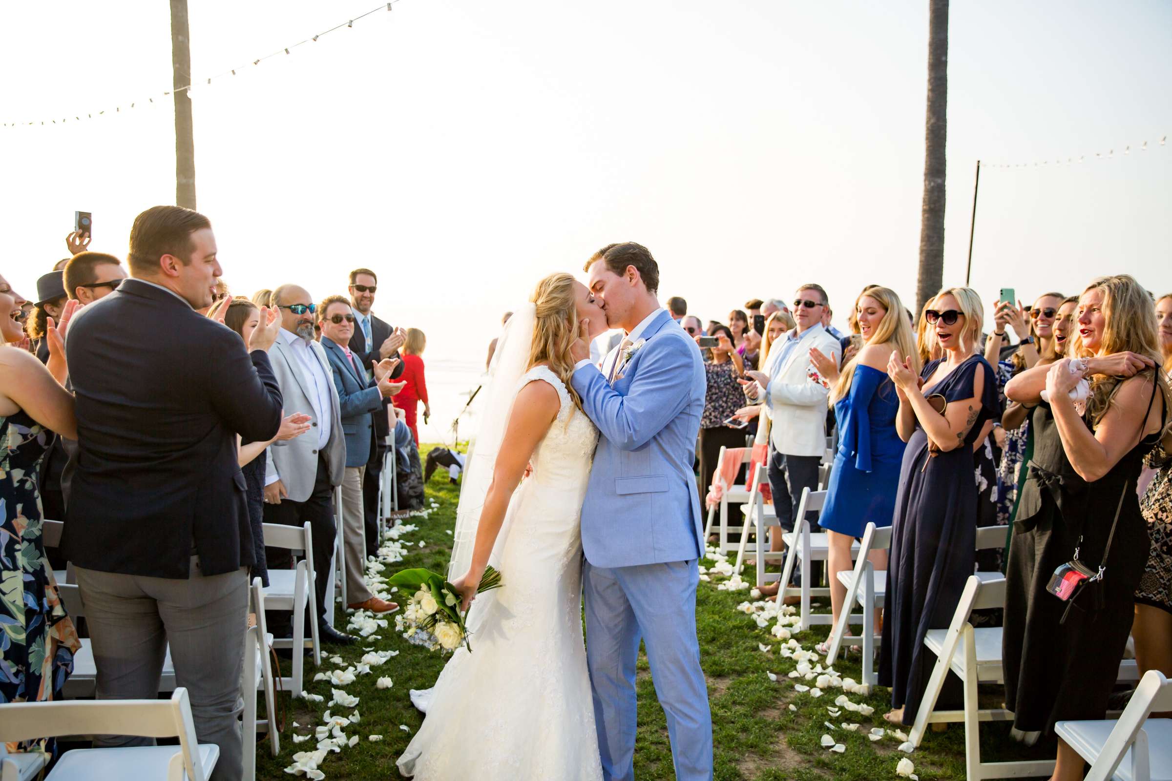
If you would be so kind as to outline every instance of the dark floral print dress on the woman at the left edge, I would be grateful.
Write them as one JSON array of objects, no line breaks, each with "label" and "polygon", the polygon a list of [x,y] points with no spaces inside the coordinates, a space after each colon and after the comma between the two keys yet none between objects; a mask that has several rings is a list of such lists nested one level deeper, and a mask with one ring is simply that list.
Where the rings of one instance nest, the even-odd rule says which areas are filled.
[{"label": "dark floral print dress on the woman at the left edge", "polygon": [[0,705],[59,699],[81,648],[41,542],[36,475],[52,439],[25,412],[0,418]]}]

